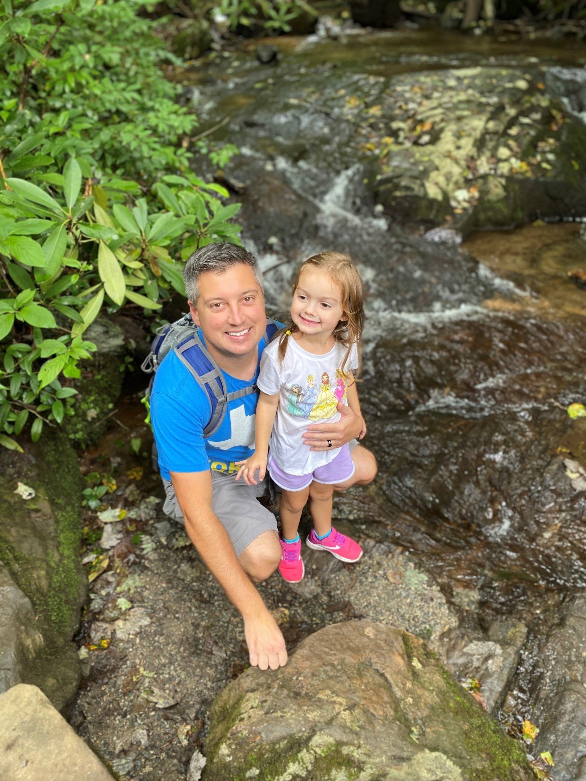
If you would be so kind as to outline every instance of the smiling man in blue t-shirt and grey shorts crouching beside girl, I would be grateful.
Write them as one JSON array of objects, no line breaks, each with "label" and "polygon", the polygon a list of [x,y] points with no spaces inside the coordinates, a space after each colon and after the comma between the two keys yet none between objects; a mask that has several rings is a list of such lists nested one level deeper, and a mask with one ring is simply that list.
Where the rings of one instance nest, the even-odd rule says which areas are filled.
[{"label": "smiling man in blue t-shirt and grey shorts crouching beside girl", "polygon": [[[235,244],[208,244],[191,255],[184,269],[194,323],[226,380],[227,391],[256,381],[265,348],[265,298],[256,259]],[[167,500],[165,512],[185,523],[186,532],[211,573],[236,605],[244,622],[250,664],[261,669],[285,665],[287,652],[279,626],[254,587],[275,572],[281,546],[275,518],[257,497],[268,493],[236,482],[236,462],[254,450],[257,394],[229,401],[222,425],[207,439],[208,395],[174,351],[154,378],[151,419]],[[338,448],[357,437],[362,419],[339,405],[335,424],[307,427],[314,450]],[[357,445],[350,485],[369,483],[374,456]]]}]

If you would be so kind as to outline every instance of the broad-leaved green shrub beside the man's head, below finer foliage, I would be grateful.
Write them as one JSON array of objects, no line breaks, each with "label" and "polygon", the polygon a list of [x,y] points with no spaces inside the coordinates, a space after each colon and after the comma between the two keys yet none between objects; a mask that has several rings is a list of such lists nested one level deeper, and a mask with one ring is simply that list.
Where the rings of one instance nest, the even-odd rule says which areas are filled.
[{"label": "broad-leaved green shrub beside the man's head, below finer foliage", "polygon": [[43,419],[62,422],[76,391],[59,377],[80,376],[77,364],[95,350],[83,333],[98,314],[130,305],[147,315],[172,291],[185,295],[171,252],[185,259],[197,246],[238,241],[240,230],[228,222],[240,205],[222,205],[227,192],[191,173],[163,177],[151,201],[83,186],[73,158],[60,182],[49,193],[8,177],[0,191],[0,430],[19,434],[32,413],[33,440]]}]

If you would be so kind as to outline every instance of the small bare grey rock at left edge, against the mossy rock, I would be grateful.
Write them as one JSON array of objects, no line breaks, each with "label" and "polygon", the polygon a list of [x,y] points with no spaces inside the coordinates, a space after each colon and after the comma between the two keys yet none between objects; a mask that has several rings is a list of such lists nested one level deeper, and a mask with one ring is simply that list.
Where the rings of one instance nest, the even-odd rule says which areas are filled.
[{"label": "small bare grey rock at left edge, against the mossy rock", "polygon": [[30,599],[0,564],[0,694],[27,678],[44,646],[35,623]]}]

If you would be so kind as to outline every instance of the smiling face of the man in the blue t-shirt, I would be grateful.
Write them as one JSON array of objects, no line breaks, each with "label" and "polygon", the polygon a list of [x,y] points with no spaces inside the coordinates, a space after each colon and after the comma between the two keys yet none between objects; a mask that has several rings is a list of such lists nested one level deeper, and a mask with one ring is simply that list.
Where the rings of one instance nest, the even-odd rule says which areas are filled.
[{"label": "smiling face of the man in the blue t-shirt", "polygon": [[245,358],[254,352],[267,327],[265,298],[253,269],[244,263],[199,278],[200,297],[190,312],[201,326],[211,355],[218,360]]}]

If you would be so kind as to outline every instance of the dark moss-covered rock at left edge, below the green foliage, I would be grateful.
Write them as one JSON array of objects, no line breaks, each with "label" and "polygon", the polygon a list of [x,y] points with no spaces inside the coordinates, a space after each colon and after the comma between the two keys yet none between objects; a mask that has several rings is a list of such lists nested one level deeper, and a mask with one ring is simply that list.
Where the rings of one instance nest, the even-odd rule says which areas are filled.
[{"label": "dark moss-covered rock at left edge, below the green foliage", "polygon": [[[87,593],[80,563],[83,483],[64,432],[45,431],[22,454],[0,449],[0,562],[29,597],[44,645],[23,683],[35,683],[62,708],[79,680],[72,638]],[[15,493],[18,483],[34,490]]]}]

